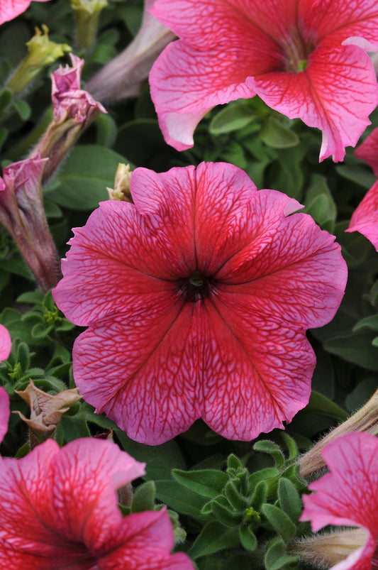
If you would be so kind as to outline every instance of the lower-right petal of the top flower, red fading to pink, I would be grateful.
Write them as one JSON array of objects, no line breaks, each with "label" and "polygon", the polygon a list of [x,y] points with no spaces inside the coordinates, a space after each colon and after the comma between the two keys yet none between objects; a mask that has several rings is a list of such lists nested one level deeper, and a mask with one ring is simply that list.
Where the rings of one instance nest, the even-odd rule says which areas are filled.
[{"label": "lower-right petal of the top flower, red fading to pink", "polygon": [[372,62],[354,45],[338,50],[319,47],[304,72],[272,72],[250,78],[247,84],[276,111],[321,129],[320,160],[330,155],[336,162],[343,160],[345,146],[356,145],[378,103]]}]

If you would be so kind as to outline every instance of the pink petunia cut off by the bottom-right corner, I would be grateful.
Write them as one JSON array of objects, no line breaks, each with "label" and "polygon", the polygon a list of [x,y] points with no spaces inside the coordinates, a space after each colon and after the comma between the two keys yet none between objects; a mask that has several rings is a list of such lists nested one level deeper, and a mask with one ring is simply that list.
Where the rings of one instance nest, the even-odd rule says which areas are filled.
[{"label": "pink petunia cut off by the bottom-right corner", "polygon": [[346,434],[328,444],[323,457],[330,473],[308,487],[316,493],[302,497],[301,520],[311,520],[313,532],[327,525],[365,529],[365,544],[332,567],[378,568],[378,438],[366,433]]}]

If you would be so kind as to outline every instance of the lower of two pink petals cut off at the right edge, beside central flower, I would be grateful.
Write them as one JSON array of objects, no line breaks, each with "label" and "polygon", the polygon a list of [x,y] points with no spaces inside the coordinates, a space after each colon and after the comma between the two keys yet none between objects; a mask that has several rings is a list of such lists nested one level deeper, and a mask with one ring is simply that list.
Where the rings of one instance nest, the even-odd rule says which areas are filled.
[{"label": "lower of two pink petals cut off at the right edge, beside central flower", "polygon": [[353,212],[345,231],[360,231],[378,251],[378,180]]}]

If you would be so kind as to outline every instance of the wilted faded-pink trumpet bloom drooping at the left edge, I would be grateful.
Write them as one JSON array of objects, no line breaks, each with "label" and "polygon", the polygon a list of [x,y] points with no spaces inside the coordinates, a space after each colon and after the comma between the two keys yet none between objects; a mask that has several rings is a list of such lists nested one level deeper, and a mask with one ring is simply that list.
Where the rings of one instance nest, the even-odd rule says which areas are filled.
[{"label": "wilted faded-pink trumpet bloom drooping at the left edge", "polygon": [[6,166],[0,178],[0,224],[16,241],[44,292],[60,277],[59,260],[43,209],[42,177],[47,159],[33,158]]}]

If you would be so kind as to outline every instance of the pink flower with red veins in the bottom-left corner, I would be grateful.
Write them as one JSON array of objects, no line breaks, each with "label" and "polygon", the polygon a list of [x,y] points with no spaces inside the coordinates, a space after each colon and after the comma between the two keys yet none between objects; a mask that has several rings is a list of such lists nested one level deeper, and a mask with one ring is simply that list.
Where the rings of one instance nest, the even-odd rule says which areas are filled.
[{"label": "pink flower with red veins in the bottom-left corner", "polygon": [[[3,403],[0,388],[0,412]],[[116,490],[144,473],[104,439],[62,449],[48,439],[22,459],[0,458],[0,569],[193,570],[186,554],[170,554],[165,510],[121,515]]]}]

